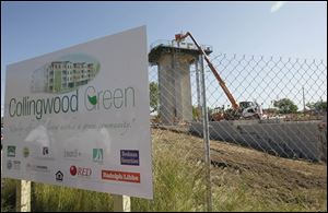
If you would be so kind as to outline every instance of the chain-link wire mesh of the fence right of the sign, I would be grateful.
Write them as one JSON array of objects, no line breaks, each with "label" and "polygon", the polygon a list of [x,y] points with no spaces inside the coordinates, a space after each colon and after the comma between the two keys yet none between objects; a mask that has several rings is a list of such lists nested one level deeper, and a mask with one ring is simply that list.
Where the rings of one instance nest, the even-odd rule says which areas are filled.
[{"label": "chain-link wire mesh of the fence right of the sign", "polygon": [[[212,210],[327,211],[326,61],[211,58],[238,104],[204,62]],[[177,49],[149,71],[154,194],[172,194],[155,210],[209,210],[200,74],[199,58]]]}]

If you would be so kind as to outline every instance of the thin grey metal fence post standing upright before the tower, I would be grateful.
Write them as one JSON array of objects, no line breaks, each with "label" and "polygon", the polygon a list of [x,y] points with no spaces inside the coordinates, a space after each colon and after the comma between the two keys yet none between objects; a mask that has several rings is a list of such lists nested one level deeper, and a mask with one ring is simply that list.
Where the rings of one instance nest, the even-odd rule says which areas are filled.
[{"label": "thin grey metal fence post standing upright before the tower", "polygon": [[210,133],[209,133],[209,115],[207,107],[206,83],[203,56],[200,55],[201,72],[201,95],[202,95],[202,125],[203,125],[203,143],[204,143],[204,162],[206,162],[206,182],[207,182],[207,211],[212,212],[212,187],[211,187],[211,158],[210,158]]}]

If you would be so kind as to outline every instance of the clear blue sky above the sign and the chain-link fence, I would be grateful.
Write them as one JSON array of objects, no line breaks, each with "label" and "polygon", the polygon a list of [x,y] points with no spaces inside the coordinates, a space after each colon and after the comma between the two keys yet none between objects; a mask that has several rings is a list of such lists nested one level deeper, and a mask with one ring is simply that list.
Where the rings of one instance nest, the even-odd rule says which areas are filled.
[{"label": "clear blue sky above the sign and the chain-link fence", "polygon": [[215,54],[327,61],[327,2],[1,1],[1,115],[8,64],[141,25],[149,46],[190,31]]}]

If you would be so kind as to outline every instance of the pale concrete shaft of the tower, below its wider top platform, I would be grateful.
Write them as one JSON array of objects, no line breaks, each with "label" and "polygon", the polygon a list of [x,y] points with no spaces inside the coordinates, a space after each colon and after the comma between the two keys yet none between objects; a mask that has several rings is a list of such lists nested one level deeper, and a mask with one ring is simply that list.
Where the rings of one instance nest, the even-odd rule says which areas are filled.
[{"label": "pale concrete shaft of the tower, below its wider top platform", "polygon": [[192,120],[190,62],[194,57],[183,52],[162,55],[157,61],[160,114],[163,123]]}]

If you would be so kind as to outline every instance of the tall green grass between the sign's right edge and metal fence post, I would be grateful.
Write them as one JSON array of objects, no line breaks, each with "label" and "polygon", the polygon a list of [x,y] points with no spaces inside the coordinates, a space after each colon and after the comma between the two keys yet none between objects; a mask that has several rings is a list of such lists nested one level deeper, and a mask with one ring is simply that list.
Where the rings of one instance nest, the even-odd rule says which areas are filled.
[{"label": "tall green grass between the sign's right edge and metal fence post", "polygon": [[169,145],[160,145],[154,156],[154,199],[132,198],[132,211],[202,211],[202,164],[189,162],[187,150],[177,152]]}]

